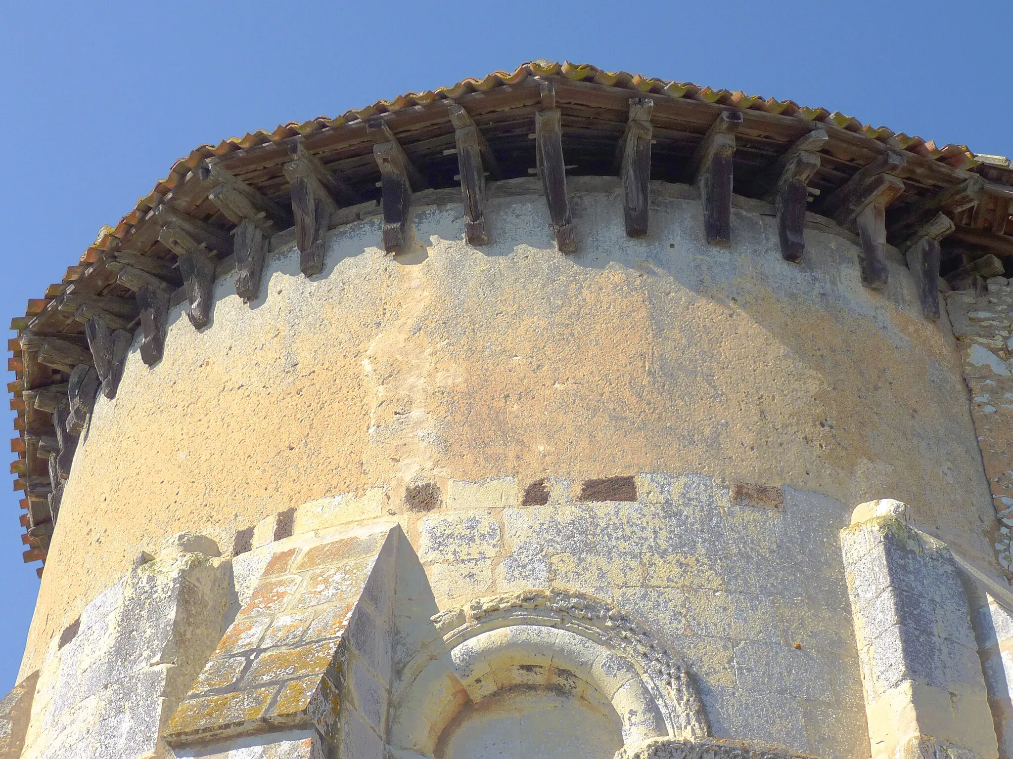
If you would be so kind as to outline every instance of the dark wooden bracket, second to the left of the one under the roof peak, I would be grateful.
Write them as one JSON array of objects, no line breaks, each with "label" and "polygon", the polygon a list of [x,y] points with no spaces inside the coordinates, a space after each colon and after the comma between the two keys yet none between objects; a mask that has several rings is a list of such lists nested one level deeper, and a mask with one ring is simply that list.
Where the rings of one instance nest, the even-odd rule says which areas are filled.
[{"label": "dark wooden bracket, second to the left of the one under the roof peak", "polygon": [[428,183],[408,160],[383,118],[374,116],[367,121],[366,129],[374,143],[373,158],[380,167],[383,247],[394,253],[404,245],[407,236],[411,191],[424,189]]}]

